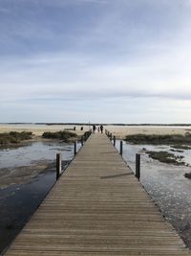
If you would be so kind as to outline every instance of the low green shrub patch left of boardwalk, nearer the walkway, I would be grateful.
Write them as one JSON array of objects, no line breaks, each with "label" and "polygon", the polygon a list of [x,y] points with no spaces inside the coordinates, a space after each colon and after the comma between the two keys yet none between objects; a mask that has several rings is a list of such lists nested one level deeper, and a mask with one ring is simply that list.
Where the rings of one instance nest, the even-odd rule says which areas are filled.
[{"label": "low green shrub patch left of boardwalk, nearer the walkway", "polygon": [[59,139],[67,142],[70,139],[77,137],[77,135],[76,133],[67,130],[59,130],[55,132],[46,131],[42,134],[42,137],[47,139]]}]

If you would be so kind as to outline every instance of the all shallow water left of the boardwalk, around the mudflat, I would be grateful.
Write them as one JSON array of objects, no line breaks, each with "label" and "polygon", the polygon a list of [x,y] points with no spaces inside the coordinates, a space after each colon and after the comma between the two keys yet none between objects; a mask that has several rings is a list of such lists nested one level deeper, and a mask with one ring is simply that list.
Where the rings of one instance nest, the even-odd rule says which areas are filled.
[{"label": "all shallow water left of the boardwalk, around the mudflat", "polygon": [[[80,144],[77,144],[77,151]],[[74,156],[74,144],[57,142],[33,142],[25,147],[0,151],[0,177],[12,170],[29,171],[47,163],[44,173],[22,179],[22,182],[0,187],[0,253],[11,243],[15,235],[23,228],[26,221],[45,198],[55,182],[55,155],[62,154],[63,169]],[[23,175],[23,174],[22,174]],[[15,183],[18,179],[15,179]],[[14,182],[13,182],[14,183]]]}]

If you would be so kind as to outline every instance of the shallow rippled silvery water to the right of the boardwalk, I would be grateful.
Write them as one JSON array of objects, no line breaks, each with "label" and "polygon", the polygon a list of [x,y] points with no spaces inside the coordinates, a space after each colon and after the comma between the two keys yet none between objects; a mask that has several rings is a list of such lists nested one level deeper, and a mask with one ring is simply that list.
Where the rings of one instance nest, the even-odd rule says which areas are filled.
[{"label": "shallow rippled silvery water to the right of the boardwalk", "polygon": [[[185,244],[191,248],[191,180],[184,177],[191,167],[161,163],[142,152],[169,151],[169,146],[129,145],[123,143],[123,158],[135,173],[136,153],[140,153],[140,182],[147,193],[159,205],[161,213],[180,233]],[[117,149],[119,142],[117,141]],[[191,164],[191,151],[176,152],[184,155],[183,161]]]}]

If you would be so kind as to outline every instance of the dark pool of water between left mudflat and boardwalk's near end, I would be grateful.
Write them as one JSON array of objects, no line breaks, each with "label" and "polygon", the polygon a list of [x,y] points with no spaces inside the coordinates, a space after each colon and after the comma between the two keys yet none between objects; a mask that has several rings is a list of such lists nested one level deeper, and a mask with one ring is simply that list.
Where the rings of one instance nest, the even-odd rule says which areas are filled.
[{"label": "dark pool of water between left mudflat and boardwalk's near end", "polygon": [[30,184],[0,190],[0,252],[20,232],[55,182],[54,173],[39,175]]}]

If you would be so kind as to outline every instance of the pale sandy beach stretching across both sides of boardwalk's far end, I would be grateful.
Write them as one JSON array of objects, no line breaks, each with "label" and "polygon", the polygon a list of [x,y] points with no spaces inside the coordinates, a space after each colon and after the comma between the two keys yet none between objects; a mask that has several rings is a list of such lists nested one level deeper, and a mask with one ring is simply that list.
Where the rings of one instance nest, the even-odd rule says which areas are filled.
[{"label": "pale sandy beach stretching across both sides of boardwalk's far end", "polygon": [[[75,130],[74,130],[75,127]],[[83,130],[81,128],[83,127]],[[34,124],[13,124],[13,125],[0,125],[0,133],[14,131],[32,131],[35,136],[41,136],[45,131],[58,131],[70,130],[74,131],[77,135],[82,135],[85,131],[91,129],[92,126],[79,126],[79,125],[34,125]],[[97,126],[98,128],[98,126]],[[168,127],[168,126],[112,126],[108,125],[105,129],[112,132],[117,138],[125,138],[126,135],[131,134],[185,134],[191,132],[191,127]]]}]

